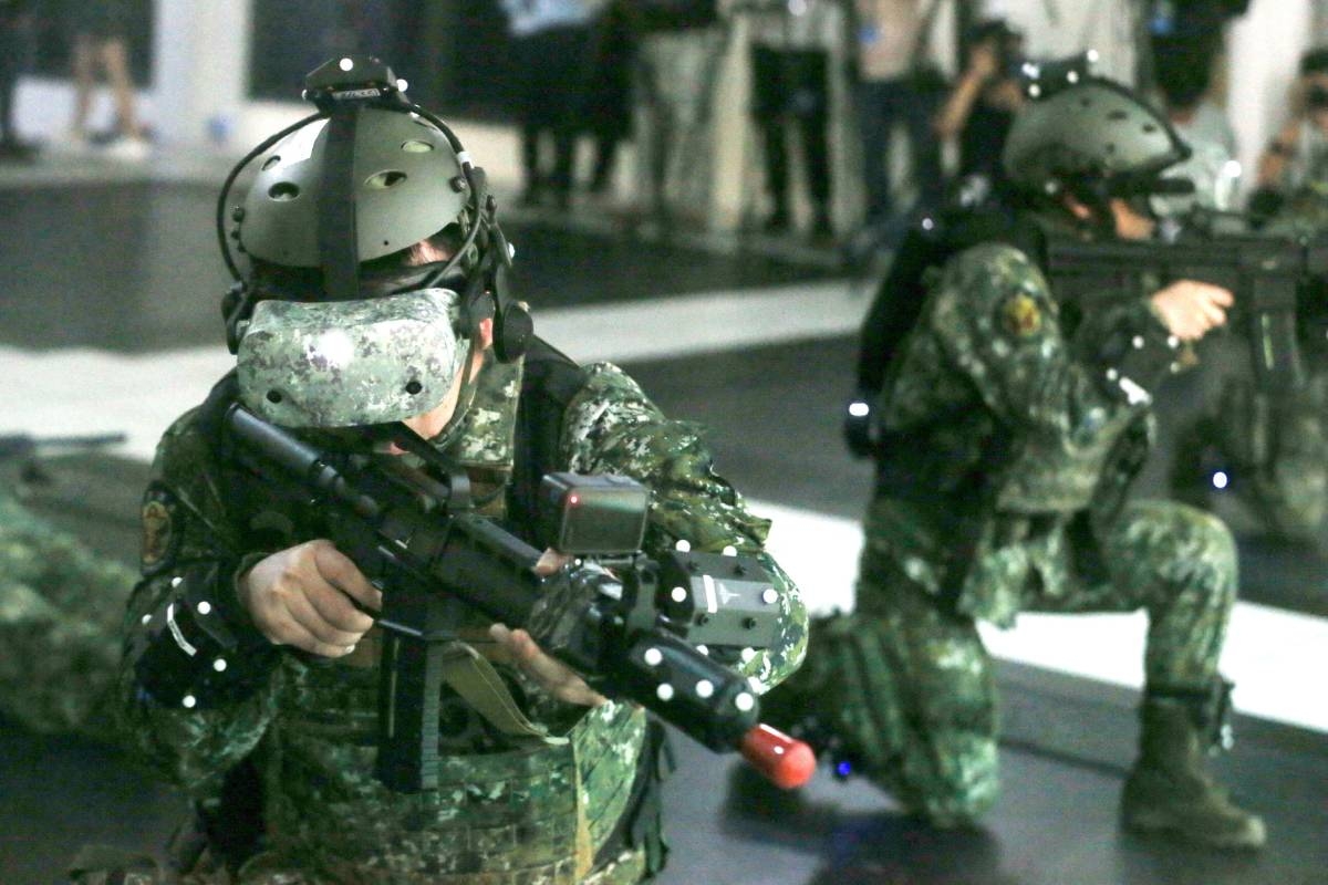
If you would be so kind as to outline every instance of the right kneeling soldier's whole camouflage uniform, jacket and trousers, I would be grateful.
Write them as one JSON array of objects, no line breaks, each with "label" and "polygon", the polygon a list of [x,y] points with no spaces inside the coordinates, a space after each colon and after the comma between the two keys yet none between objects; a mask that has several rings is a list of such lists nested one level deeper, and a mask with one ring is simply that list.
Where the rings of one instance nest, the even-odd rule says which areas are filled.
[{"label": "right kneeling soldier's whole camouflage uniform, jacket and trousers", "polygon": [[1232,539],[1190,507],[1125,503],[1151,418],[1098,356],[1122,330],[1167,337],[1138,301],[1068,338],[1033,263],[983,244],[946,263],[892,364],[857,612],[814,624],[807,666],[772,706],[815,698],[845,755],[939,824],[997,795],[977,620],[1145,608],[1150,690],[1199,693],[1216,677]]}]

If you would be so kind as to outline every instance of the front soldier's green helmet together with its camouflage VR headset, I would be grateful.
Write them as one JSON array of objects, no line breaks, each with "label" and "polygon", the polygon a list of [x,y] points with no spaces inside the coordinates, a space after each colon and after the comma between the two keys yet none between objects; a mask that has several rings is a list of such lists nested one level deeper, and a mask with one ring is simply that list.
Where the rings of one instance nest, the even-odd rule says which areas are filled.
[{"label": "front soldier's green helmet together with its camouflage VR headset", "polygon": [[[376,58],[324,64],[305,78],[317,113],[250,151],[222,188],[218,238],[236,280],[222,305],[227,344],[240,399],[275,423],[425,413],[458,374],[469,382],[465,342],[481,321],[494,320],[499,360],[519,357],[533,332],[506,291],[513,249],[483,170],[404,90]],[[251,162],[227,231],[227,196]],[[405,257],[425,240],[445,243],[445,257]]]}]

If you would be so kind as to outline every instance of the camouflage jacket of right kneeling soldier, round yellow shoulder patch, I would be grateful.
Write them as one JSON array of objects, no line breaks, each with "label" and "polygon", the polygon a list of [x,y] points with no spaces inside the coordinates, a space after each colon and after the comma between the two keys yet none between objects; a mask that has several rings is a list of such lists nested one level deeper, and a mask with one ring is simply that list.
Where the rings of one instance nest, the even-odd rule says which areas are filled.
[{"label": "camouflage jacket of right kneeling soldier, round yellow shoulder patch", "polygon": [[1035,581],[1062,592],[1092,567],[1092,524],[1120,507],[1150,442],[1146,405],[1101,352],[1122,332],[1141,349],[1174,344],[1135,300],[1070,338],[1021,251],[952,256],[880,394],[867,543],[971,617],[1009,624]]}]

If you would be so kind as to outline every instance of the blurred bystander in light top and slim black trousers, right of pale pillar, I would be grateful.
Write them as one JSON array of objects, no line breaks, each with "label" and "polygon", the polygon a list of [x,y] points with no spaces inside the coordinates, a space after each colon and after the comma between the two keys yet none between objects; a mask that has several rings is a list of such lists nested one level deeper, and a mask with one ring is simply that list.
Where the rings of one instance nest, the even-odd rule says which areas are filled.
[{"label": "blurred bystander in light top and slim black trousers, right of pale pillar", "polygon": [[830,220],[830,50],[843,37],[835,0],[762,3],[752,16],[752,117],[760,131],[770,214],[762,230],[793,226],[789,208],[789,130],[798,133],[811,235],[833,236]]}]

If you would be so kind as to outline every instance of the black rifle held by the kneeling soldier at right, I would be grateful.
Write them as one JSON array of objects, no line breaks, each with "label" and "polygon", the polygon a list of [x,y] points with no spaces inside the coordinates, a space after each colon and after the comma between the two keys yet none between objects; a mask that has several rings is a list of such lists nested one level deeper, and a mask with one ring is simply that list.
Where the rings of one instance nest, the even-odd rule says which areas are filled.
[{"label": "black rifle held by the kneeling soldier at right", "polygon": [[1143,273],[1159,285],[1198,280],[1224,287],[1235,296],[1228,321],[1248,338],[1258,387],[1280,394],[1304,379],[1297,303],[1307,285],[1328,279],[1328,240],[1250,234],[1173,243],[1052,236],[1044,257],[1052,292],[1085,313],[1120,297],[1121,289],[1146,296],[1139,287]]}]

